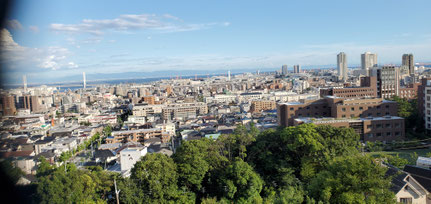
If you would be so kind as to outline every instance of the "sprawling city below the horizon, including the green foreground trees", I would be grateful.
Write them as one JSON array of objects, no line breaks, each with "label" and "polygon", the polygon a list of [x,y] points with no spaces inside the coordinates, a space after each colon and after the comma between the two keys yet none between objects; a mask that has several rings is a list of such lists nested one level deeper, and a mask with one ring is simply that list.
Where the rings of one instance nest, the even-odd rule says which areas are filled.
[{"label": "sprawling city below the horizon, including the green foreground trees", "polygon": [[431,203],[431,69],[378,65],[1,91],[23,202]]}]

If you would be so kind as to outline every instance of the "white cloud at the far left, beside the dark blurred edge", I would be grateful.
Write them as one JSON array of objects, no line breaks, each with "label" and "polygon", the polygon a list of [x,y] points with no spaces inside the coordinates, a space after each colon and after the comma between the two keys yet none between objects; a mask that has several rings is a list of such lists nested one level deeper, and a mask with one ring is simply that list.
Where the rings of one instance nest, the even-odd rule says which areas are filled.
[{"label": "white cloud at the far left, beside the dark blurred edge", "polygon": [[75,68],[77,66],[74,62],[70,62],[70,59],[68,60],[72,53],[66,48],[24,47],[13,40],[12,35],[7,29],[2,29],[0,35],[0,62],[9,70],[28,70],[31,67],[57,70],[61,68]]}]

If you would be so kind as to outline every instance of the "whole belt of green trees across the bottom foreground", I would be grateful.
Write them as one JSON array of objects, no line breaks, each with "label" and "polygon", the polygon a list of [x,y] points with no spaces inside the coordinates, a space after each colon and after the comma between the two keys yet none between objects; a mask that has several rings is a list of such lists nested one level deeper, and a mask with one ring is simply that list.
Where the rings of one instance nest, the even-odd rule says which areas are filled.
[{"label": "whole belt of green trees across the bottom foreground", "polygon": [[305,124],[259,132],[239,126],[217,140],[147,154],[130,178],[100,167],[54,168],[43,158],[38,203],[394,203],[386,168],[360,152],[353,129]]}]

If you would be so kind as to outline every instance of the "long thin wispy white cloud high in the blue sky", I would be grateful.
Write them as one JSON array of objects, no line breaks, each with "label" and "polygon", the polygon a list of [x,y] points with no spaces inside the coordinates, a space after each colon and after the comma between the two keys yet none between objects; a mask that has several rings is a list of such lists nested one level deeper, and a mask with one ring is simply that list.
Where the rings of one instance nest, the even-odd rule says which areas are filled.
[{"label": "long thin wispy white cloud high in the blue sky", "polygon": [[185,24],[183,21],[169,14],[127,14],[114,19],[84,19],[78,24],[51,24],[51,29],[65,33],[89,33],[93,35],[103,35],[106,31],[131,31],[131,30],[158,30],[163,32],[182,32],[207,29],[213,26],[228,26],[229,22],[224,23],[203,23]]}]

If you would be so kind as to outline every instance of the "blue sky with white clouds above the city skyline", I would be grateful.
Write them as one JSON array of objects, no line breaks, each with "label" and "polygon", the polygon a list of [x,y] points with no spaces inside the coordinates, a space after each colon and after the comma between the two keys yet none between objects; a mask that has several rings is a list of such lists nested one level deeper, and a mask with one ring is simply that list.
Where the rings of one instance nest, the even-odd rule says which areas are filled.
[{"label": "blue sky with white clouds above the city skyline", "polygon": [[[431,1],[17,1],[2,30],[8,83],[160,70],[431,61]],[[91,78],[90,78],[91,80]]]}]

